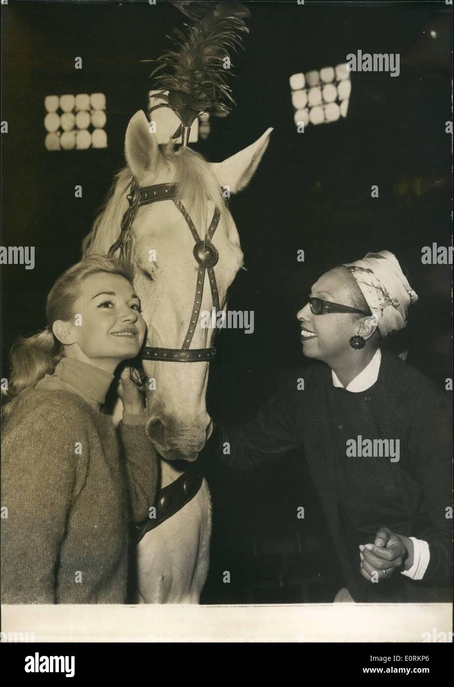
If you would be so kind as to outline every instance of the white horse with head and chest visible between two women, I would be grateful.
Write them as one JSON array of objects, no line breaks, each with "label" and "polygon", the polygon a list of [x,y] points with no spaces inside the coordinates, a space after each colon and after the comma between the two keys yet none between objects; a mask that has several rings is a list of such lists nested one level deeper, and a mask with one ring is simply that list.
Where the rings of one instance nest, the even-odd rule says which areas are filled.
[{"label": "white horse with head and chest visible between two women", "polygon": [[[267,129],[233,157],[210,164],[190,148],[174,150],[173,144],[168,144],[161,150],[146,115],[137,112],[126,131],[127,166],[117,175],[106,207],[84,241],[85,254],[105,254],[118,239],[120,222],[128,208],[126,194],[133,181],[142,188],[177,182],[176,201],[183,202],[201,238],[205,237],[215,207],[220,212],[212,243],[219,256],[214,268],[219,303],[225,310],[229,286],[243,260],[225,196],[247,186],[271,131]],[[139,207],[132,226],[131,260],[135,267],[134,288],[148,328],[148,347],[181,349],[196,289],[198,264],[193,249],[194,238],[173,201]],[[200,313],[212,311],[212,292],[207,282],[205,275]],[[190,348],[209,348],[213,337],[214,328],[202,328],[199,315]],[[183,475],[181,461],[196,460],[212,433],[205,407],[209,363],[144,360],[143,364],[148,380],[155,380],[155,384],[147,385],[146,431],[162,458],[162,490]],[[198,602],[208,572],[210,533],[211,502],[203,480],[188,503],[139,542],[135,600]]]}]

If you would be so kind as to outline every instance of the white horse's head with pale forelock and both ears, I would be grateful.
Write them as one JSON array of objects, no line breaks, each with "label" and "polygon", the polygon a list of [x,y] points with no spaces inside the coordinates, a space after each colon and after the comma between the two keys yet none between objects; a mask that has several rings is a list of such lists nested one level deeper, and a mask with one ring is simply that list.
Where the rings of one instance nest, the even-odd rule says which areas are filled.
[{"label": "white horse's head with pale forelock and both ears", "polygon": [[[231,282],[242,267],[242,251],[225,194],[241,191],[251,180],[269,142],[269,128],[255,143],[223,162],[209,164],[190,148],[159,148],[146,115],[137,112],[128,124],[125,155],[128,167],[117,183],[92,232],[90,252],[106,252],[118,238],[120,219],[127,208],[132,181],[141,188],[177,183],[177,197],[142,205],[132,225],[134,287],[147,325],[146,346],[181,349],[188,333],[197,290],[198,264],[194,237],[177,203],[190,215],[198,235],[205,232],[218,210],[212,238],[218,253],[214,267],[218,301],[224,310]],[[110,244],[110,245],[111,245]],[[212,291],[205,273],[203,295],[194,320],[190,349],[212,346],[214,328],[201,326],[201,314],[212,311]],[[196,295],[195,295],[196,298]],[[205,407],[207,361],[144,360],[148,377],[146,431],[157,451],[168,460],[195,460],[212,433]]]}]

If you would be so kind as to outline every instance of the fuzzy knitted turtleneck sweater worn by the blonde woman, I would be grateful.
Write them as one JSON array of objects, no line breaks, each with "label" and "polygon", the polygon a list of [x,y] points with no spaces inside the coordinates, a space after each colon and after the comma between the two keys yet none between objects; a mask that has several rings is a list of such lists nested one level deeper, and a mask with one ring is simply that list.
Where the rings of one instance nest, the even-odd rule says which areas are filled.
[{"label": "fuzzy knitted turtleneck sweater worn by the blonde woman", "polygon": [[3,603],[124,603],[128,521],[148,515],[157,455],[146,413],[115,429],[113,375],[64,358],[18,399],[2,440]]}]

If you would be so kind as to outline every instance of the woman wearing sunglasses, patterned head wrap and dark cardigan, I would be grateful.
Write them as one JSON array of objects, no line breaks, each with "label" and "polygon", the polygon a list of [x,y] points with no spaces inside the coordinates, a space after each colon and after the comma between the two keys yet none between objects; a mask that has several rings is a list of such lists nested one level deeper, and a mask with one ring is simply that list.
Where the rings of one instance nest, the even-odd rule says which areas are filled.
[{"label": "woman wearing sunglasses, patterned head wrap and dark cardigan", "polygon": [[223,460],[239,469],[304,447],[343,578],[338,601],[451,596],[451,413],[427,377],[382,351],[417,299],[389,251],[321,275],[297,313],[304,355],[319,362],[226,432]]}]

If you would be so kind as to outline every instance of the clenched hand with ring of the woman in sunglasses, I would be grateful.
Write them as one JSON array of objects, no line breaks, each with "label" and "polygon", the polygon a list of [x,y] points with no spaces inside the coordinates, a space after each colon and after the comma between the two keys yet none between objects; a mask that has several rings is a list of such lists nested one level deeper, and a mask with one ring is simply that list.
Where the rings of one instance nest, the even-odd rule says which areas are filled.
[{"label": "clenched hand with ring of the woman in sunglasses", "polygon": [[413,563],[411,539],[395,534],[387,527],[378,530],[374,544],[361,545],[359,550],[361,575],[370,582],[381,582],[387,579],[396,568],[402,567],[404,561],[403,567],[406,570],[409,570]]}]

